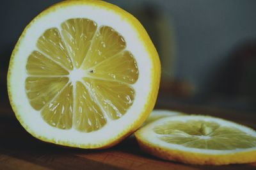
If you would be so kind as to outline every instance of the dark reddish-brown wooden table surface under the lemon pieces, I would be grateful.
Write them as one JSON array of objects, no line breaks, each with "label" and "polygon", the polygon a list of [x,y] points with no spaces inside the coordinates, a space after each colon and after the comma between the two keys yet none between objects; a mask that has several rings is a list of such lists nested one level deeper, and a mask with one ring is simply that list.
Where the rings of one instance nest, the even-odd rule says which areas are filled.
[{"label": "dark reddish-brown wooden table surface under the lemon pieces", "polygon": [[[256,169],[256,163],[191,166],[164,161],[140,151],[132,136],[107,150],[63,148],[35,139],[14,118],[10,106],[0,108],[0,169]],[[256,128],[254,113],[179,104],[170,104],[168,108],[218,116]]]}]

